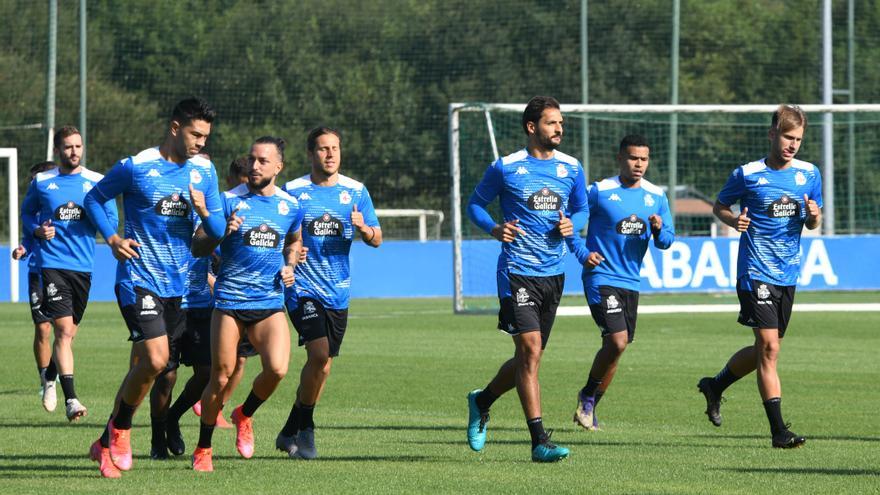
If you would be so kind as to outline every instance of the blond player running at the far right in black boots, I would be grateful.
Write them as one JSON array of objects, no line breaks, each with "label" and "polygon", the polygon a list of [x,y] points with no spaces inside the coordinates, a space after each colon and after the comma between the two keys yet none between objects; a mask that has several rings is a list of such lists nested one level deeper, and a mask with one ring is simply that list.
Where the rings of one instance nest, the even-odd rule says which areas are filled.
[{"label": "blond player running at the far right in black boots", "polygon": [[[721,394],[752,371],[770,422],[771,445],[800,447],[806,438],[782,419],[782,387],[776,363],[791,318],[800,273],[801,231],[822,223],[822,178],[812,163],[795,158],[807,116],[797,106],[780,105],[770,122],[770,153],[730,175],[718,193],[715,216],[742,232],[737,258],[739,323],[752,328],[755,342],[737,351],[713,377],[697,388],[706,398],[706,415],[721,426]],[[740,212],[731,206],[739,202]]]}]

